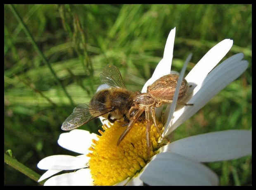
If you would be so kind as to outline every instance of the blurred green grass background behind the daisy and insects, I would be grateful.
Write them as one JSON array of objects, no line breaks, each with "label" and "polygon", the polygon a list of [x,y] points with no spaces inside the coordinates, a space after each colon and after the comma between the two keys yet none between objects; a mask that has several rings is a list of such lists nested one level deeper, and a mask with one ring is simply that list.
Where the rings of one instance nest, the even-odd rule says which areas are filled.
[{"label": "blurred green grass background behind the daisy and insects", "polygon": [[[249,68],[173,132],[173,140],[211,131],[251,129],[251,5],[9,5],[4,6],[4,151],[42,175],[37,163],[69,154],[57,144],[62,122],[90,101],[99,73],[116,65],[130,90],[140,90],[161,60],[176,27],[172,70],[187,73],[223,39],[234,40],[226,58],[242,52]],[[50,65],[50,66],[49,66]],[[81,129],[97,132],[100,121]],[[86,148],[86,147],[85,147]],[[251,156],[207,163],[220,185],[251,185]],[[4,165],[5,185],[39,185]]]}]

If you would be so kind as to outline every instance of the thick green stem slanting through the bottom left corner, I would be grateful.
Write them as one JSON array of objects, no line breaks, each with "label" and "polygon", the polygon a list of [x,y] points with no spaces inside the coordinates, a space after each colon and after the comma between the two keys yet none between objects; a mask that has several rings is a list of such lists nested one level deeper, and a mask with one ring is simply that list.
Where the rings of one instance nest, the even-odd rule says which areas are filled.
[{"label": "thick green stem slanting through the bottom left corner", "polygon": [[[14,169],[17,169],[18,171],[25,174],[26,176],[33,179],[34,181],[36,181],[36,182],[38,181],[38,179],[40,178],[40,175],[38,173],[36,173],[32,169],[26,167],[25,165],[21,164],[20,162],[18,162],[14,158],[8,156],[7,154],[4,153],[4,155],[5,155],[5,158],[4,158],[5,163],[7,163],[9,166],[13,167]],[[40,185],[43,185],[44,181],[40,181],[38,183]]]}]

